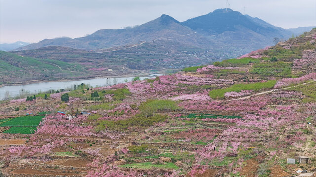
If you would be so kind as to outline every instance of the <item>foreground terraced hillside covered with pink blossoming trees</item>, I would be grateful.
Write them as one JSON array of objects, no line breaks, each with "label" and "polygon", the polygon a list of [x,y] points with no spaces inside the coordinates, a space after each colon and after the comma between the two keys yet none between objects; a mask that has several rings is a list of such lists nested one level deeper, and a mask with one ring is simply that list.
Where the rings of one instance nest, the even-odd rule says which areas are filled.
[{"label": "foreground terraced hillside covered with pink blossoming trees", "polygon": [[172,75],[2,101],[0,175],[315,177],[315,64],[312,29]]}]

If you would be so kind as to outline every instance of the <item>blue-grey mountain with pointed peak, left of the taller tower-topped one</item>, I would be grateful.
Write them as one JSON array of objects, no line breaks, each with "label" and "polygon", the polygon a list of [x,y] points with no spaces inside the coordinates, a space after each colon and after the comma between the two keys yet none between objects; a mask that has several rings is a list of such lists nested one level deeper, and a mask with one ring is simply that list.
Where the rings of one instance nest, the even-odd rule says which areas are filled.
[{"label": "blue-grey mountain with pointed peak, left of the taller tower-topped one", "polygon": [[[168,15],[147,22],[134,28],[125,29],[101,29],[86,37],[45,39],[36,44],[20,47],[18,50],[36,49],[46,46],[64,46],[84,50],[103,49],[130,44],[138,44],[144,41],[168,39],[184,35],[195,34],[192,29],[184,27],[179,21]],[[198,45],[189,41],[192,45]]]}]

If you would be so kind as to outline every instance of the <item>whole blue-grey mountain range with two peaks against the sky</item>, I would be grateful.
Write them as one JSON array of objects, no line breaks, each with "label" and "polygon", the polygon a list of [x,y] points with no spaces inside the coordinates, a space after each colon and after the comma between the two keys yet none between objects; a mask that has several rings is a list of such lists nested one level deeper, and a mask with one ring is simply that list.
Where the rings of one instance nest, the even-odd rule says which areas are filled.
[{"label": "whole blue-grey mountain range with two peaks against the sky", "polygon": [[[125,29],[101,29],[86,37],[45,39],[39,43],[20,47],[16,50],[30,50],[46,46],[63,46],[83,50],[113,50],[116,48],[142,47],[144,42],[153,43],[164,51],[193,47],[211,51],[208,60],[227,59],[240,56],[252,50],[273,45],[273,38],[288,39],[292,36],[280,27],[275,27],[259,18],[242,15],[229,9],[217,9],[212,13],[180,23],[168,15]],[[170,41],[173,45],[170,45]],[[110,48],[110,49],[108,49]],[[143,51],[146,50],[144,47]],[[183,50],[186,51],[186,50]],[[229,52],[228,52],[229,51]],[[151,51],[147,51],[149,53]],[[205,56],[205,55],[201,55]],[[205,64],[197,62],[196,65]]]}]

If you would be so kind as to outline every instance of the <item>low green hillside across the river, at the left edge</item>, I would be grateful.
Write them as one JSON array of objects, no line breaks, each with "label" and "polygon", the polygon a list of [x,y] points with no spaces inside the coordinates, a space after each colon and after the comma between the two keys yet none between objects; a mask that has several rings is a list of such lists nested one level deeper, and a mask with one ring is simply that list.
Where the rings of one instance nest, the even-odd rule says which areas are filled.
[{"label": "low green hillside across the river, at the left edge", "polygon": [[51,59],[18,56],[0,51],[0,82],[19,83],[27,80],[66,78],[79,75],[79,64]]}]

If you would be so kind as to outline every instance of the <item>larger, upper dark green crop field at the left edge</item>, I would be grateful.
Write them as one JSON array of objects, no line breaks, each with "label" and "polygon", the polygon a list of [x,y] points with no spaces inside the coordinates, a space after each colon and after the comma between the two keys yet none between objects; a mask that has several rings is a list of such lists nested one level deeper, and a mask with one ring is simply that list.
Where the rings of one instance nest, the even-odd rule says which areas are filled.
[{"label": "larger, upper dark green crop field at the left edge", "polygon": [[44,116],[22,116],[0,124],[1,127],[37,127]]}]

